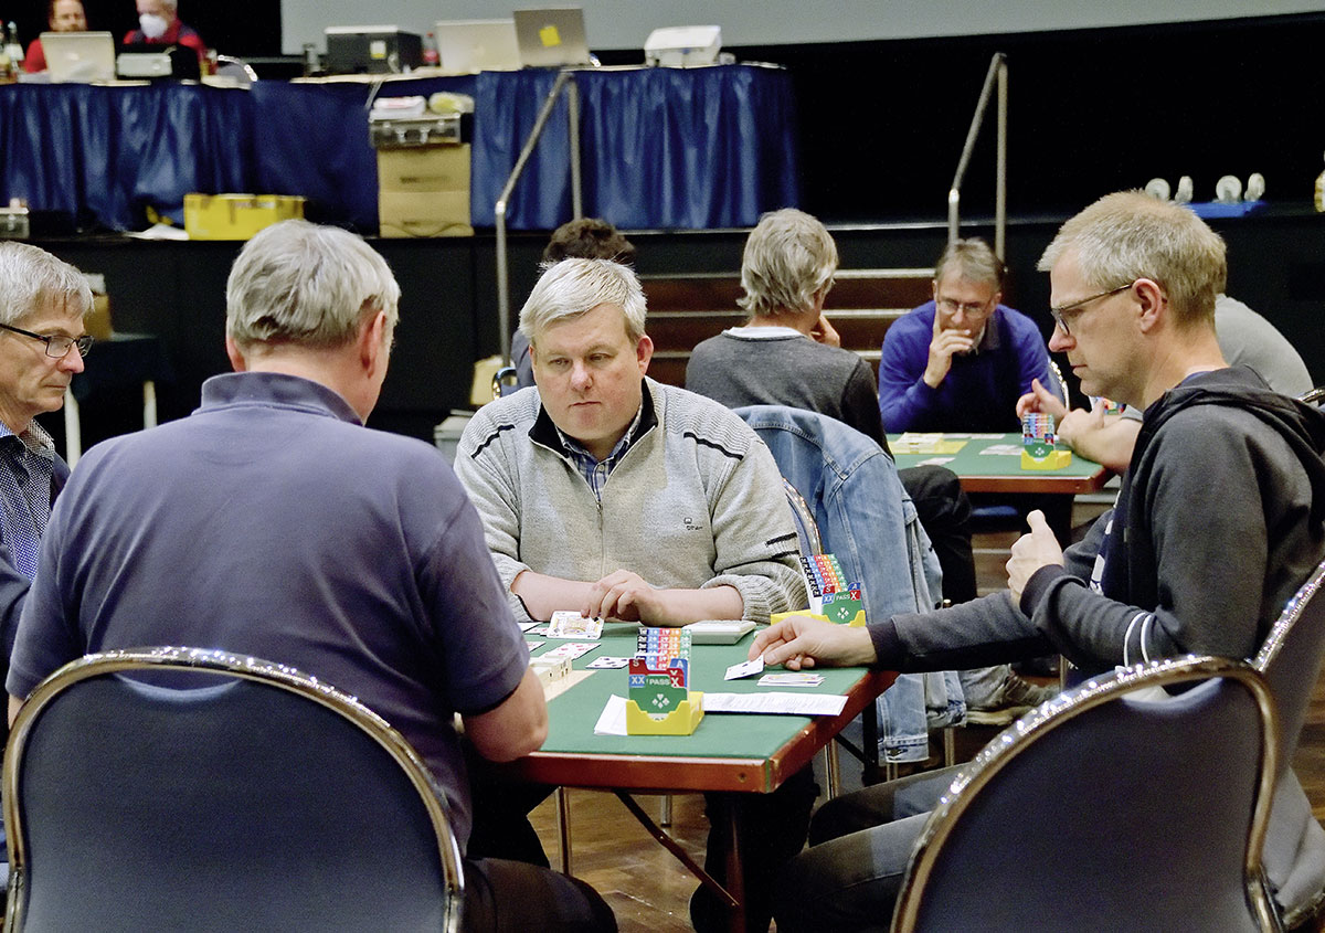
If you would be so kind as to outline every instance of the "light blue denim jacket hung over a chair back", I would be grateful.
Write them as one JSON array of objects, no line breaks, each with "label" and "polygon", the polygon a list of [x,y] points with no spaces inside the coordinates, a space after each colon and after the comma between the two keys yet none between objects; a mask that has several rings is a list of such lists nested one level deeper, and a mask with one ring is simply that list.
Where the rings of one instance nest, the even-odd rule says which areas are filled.
[{"label": "light blue denim jacket hung over a chair back", "polygon": [[[934,608],[942,575],[897,466],[873,440],[818,412],[747,406],[737,415],[772,452],[783,477],[814,510],[824,551],[859,580],[867,619]],[[926,688],[937,706],[926,716]],[[929,725],[961,722],[955,675],[902,675],[880,697],[880,751],[888,761],[924,759]]]}]

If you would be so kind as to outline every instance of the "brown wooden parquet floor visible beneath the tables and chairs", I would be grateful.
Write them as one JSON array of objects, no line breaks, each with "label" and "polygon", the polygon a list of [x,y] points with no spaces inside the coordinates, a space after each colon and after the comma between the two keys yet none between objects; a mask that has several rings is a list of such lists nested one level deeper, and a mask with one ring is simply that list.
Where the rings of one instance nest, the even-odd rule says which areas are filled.
[{"label": "brown wooden parquet floor visible beneath the tables and chairs", "polygon": [[[1006,549],[1015,537],[978,537],[977,574],[982,594],[1006,584]],[[978,745],[961,742],[958,747],[959,753],[965,750],[970,754]],[[1316,686],[1293,767],[1306,789],[1316,816],[1325,822],[1325,679]],[[553,865],[556,867],[559,848],[554,799],[549,798],[538,807],[533,820]],[[637,799],[645,811],[655,815],[660,812],[661,798]],[[682,794],[672,800],[669,832],[702,863],[708,834],[704,798],[698,794]],[[607,899],[623,933],[682,933],[692,929],[688,904],[696,881],[644,831],[620,800],[607,793],[572,790],[570,806],[572,873]]]}]

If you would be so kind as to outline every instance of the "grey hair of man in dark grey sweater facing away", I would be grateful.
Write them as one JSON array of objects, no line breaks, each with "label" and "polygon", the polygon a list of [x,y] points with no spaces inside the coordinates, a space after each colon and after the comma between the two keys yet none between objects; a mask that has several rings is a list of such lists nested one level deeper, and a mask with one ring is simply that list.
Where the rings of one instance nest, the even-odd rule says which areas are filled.
[{"label": "grey hair of man in dark grey sweater facing away", "polygon": [[772,211],[746,239],[741,257],[737,303],[751,315],[775,317],[814,306],[815,296],[832,286],[837,245],[824,225],[795,208]]}]

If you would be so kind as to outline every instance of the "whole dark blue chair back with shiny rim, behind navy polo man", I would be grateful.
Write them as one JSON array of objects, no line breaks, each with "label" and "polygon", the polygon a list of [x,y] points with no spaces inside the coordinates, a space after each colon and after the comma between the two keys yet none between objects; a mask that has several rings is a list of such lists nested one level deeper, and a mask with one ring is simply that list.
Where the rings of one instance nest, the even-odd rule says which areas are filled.
[{"label": "whole dark blue chair back with shiny rim, behind navy polo man", "polygon": [[13,724],[4,810],[9,933],[458,928],[460,850],[417,753],[280,664],[65,665]]}]

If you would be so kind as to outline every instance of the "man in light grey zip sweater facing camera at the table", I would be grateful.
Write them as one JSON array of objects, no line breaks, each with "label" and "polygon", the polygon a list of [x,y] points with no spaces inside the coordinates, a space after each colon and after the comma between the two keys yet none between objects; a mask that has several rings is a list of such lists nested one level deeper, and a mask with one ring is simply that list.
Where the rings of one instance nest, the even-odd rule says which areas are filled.
[{"label": "man in light grey zip sweater facing camera at the table", "polygon": [[[718,403],[645,376],[644,315],[628,266],[550,266],[519,315],[535,386],[484,406],[460,439],[456,473],[511,608],[529,619],[574,610],[684,626],[767,622],[804,606],[772,455]],[[494,855],[546,864],[526,814],[551,789],[481,790],[489,799],[476,807],[476,838]],[[803,846],[816,795],[808,769],[768,795],[709,795],[710,814],[738,807],[747,929],[768,928],[772,869]],[[723,839],[710,831],[706,868],[719,879]],[[721,909],[700,892],[692,918],[706,930]]]}]

